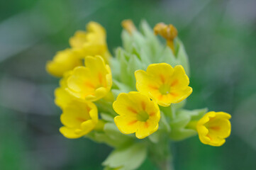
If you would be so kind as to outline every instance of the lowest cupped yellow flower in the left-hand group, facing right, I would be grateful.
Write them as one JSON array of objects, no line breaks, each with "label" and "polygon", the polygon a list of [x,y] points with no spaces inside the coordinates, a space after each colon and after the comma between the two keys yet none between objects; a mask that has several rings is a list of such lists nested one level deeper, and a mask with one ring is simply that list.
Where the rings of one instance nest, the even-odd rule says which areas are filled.
[{"label": "lowest cupped yellow flower in the left-hand group, facing right", "polygon": [[71,139],[82,137],[94,130],[98,123],[98,111],[90,101],[74,100],[63,109],[60,121],[64,125],[60,128],[62,135]]}]

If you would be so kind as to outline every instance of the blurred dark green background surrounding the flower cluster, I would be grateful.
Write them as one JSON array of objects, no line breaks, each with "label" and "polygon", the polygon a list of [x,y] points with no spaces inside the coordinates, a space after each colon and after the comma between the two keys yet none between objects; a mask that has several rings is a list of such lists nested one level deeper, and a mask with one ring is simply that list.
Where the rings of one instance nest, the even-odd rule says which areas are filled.
[{"label": "blurred dark green background surrounding the flower cluster", "polygon": [[[58,79],[45,62],[68,47],[89,21],[107,31],[112,54],[121,45],[121,21],[138,26],[172,23],[191,64],[187,108],[208,107],[233,118],[222,147],[198,137],[172,144],[177,170],[256,167],[255,0],[17,0],[0,2],[0,169],[102,169],[111,148],[58,132]],[[140,169],[156,169],[148,160]]]}]

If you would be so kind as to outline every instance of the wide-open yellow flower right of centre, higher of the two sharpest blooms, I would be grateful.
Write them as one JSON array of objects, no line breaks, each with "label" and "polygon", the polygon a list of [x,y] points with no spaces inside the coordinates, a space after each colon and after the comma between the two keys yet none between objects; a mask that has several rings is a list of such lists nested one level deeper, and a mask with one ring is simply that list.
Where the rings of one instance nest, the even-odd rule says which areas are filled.
[{"label": "wide-open yellow flower right of centre, higher of the two sharpest blooms", "polygon": [[147,72],[137,70],[135,78],[138,91],[160,106],[179,103],[192,93],[189,78],[181,65],[172,68],[166,63],[150,64]]}]

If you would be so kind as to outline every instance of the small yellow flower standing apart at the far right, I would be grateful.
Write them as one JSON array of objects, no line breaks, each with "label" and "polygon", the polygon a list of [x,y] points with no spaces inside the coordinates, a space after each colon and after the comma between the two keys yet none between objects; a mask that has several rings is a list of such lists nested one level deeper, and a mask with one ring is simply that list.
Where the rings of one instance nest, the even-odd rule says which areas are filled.
[{"label": "small yellow flower standing apart at the far right", "polygon": [[215,147],[223,145],[226,142],[225,138],[230,135],[230,118],[231,115],[224,112],[206,113],[196,125],[200,141]]}]

